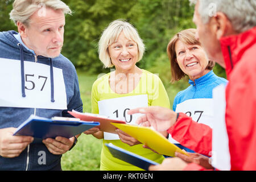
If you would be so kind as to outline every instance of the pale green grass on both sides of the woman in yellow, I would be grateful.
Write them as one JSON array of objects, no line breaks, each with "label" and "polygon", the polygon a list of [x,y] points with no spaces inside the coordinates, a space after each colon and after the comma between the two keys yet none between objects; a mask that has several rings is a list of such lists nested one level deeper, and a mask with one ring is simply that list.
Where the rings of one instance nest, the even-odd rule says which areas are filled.
[{"label": "pale green grass on both sides of the woman in yellow", "polygon": [[[80,93],[82,102],[84,104],[84,112],[91,112],[90,93],[93,82],[97,79],[97,75],[88,76],[86,73],[78,71],[80,84]],[[161,78],[161,75],[159,75]],[[161,78],[164,80],[164,78]],[[170,98],[170,104],[177,92],[179,86],[171,85],[167,82],[166,90]],[[187,86],[187,85],[184,85]],[[76,146],[65,153],[61,159],[61,166],[64,171],[98,171],[100,170],[100,155],[101,155],[102,141],[94,138],[92,135],[81,134]]]}]

